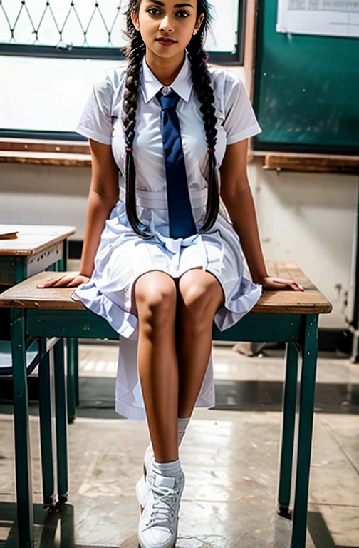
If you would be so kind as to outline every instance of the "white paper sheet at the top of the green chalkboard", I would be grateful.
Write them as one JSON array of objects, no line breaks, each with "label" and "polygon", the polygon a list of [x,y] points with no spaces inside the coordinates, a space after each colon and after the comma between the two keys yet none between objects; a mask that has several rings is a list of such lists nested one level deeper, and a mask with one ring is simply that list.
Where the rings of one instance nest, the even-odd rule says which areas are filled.
[{"label": "white paper sheet at the top of the green chalkboard", "polygon": [[359,37],[359,0],[278,0],[277,32]]}]

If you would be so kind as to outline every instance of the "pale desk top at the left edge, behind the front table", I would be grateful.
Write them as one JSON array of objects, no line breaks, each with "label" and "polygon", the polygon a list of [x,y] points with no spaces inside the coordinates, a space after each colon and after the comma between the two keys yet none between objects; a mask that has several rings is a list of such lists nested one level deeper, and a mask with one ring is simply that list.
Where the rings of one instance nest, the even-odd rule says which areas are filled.
[{"label": "pale desk top at the left edge, behind the front table", "polygon": [[75,231],[74,226],[62,225],[0,225],[0,234],[18,232],[14,239],[0,238],[0,256],[36,255]]}]

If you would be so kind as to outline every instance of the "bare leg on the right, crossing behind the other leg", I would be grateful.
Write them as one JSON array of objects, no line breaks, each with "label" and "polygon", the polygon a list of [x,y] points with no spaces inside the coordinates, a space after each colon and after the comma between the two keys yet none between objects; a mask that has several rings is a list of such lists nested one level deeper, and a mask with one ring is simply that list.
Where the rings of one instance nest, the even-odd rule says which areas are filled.
[{"label": "bare leg on the right, crossing behind the other leg", "polygon": [[211,355],[214,314],[224,293],[214,275],[198,268],[180,277],[178,290],[178,417],[190,417]]}]

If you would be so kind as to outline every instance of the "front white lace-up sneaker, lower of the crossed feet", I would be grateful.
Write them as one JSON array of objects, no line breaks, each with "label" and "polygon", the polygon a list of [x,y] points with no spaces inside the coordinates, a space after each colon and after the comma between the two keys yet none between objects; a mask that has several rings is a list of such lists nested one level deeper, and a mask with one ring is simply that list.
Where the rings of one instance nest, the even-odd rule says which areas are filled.
[{"label": "front white lace-up sneaker, lower of the crossed feet", "polygon": [[178,477],[153,472],[138,524],[140,548],[173,548],[177,540],[178,513],[184,489],[184,473]]}]

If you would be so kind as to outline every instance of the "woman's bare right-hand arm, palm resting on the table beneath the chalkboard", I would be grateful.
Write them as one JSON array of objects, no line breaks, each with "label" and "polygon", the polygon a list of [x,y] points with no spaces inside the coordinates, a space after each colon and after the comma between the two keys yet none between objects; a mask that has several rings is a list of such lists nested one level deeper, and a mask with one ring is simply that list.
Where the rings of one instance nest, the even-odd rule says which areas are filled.
[{"label": "woman's bare right-hand arm, palm resting on the table beneath the chalkboard", "polygon": [[247,151],[248,139],[227,145],[220,172],[221,198],[241,240],[251,277],[254,283],[261,283],[265,289],[303,290],[293,280],[271,278],[268,275],[261,250],[254,200],[247,178]]}]

